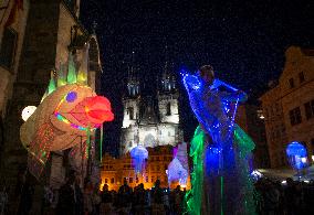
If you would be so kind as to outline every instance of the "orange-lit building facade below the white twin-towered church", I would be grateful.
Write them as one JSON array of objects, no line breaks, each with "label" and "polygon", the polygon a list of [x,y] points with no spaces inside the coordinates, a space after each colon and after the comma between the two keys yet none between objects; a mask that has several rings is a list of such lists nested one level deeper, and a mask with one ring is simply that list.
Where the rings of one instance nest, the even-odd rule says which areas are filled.
[{"label": "orange-lit building facade below the white twin-towered church", "polygon": [[[118,191],[123,185],[124,179],[127,180],[130,187],[135,187],[139,183],[144,184],[145,189],[151,189],[156,180],[160,180],[161,187],[168,187],[167,169],[172,160],[172,146],[160,146],[156,148],[147,148],[148,160],[146,161],[146,169],[143,174],[135,174],[134,165],[129,153],[122,155],[118,159],[105,154],[103,157],[103,164],[101,168],[102,184],[107,184],[109,190]],[[190,183],[187,183],[189,189]],[[178,182],[171,183],[174,189]]]}]

